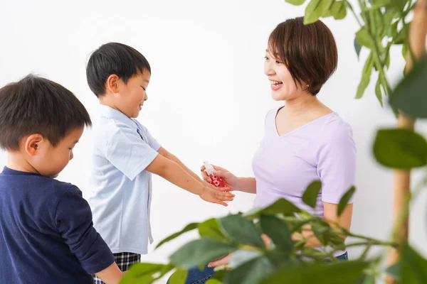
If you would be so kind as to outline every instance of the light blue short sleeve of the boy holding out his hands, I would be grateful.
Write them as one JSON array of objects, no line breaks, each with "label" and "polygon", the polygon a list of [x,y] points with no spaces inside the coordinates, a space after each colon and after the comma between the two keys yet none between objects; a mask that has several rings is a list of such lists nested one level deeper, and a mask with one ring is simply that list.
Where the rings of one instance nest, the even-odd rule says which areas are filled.
[{"label": "light blue short sleeve of the boy holding out his hands", "polygon": [[117,129],[107,143],[105,158],[134,180],[158,155],[147,142],[134,129]]}]

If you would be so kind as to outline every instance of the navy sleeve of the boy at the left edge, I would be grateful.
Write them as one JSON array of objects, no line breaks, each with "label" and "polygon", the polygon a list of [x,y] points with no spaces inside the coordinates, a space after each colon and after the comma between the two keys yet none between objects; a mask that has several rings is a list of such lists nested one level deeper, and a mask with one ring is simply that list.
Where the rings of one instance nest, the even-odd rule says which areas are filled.
[{"label": "navy sleeve of the boy at the left edge", "polygon": [[93,227],[89,204],[77,187],[71,187],[60,197],[55,222],[71,253],[87,273],[98,273],[114,263],[112,252]]}]

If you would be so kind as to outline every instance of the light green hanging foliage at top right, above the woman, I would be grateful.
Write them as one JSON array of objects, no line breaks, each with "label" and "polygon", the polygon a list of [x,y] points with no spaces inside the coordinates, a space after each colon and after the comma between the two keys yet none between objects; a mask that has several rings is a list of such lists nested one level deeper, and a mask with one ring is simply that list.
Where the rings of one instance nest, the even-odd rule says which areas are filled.
[{"label": "light green hanging foliage at top right, above the woman", "polygon": [[[294,5],[305,3],[305,0],[286,1]],[[354,50],[358,57],[362,48],[369,50],[356,98],[362,98],[374,70],[377,73],[375,94],[382,106],[384,95],[391,94],[391,87],[385,73],[390,66],[391,46],[401,45],[404,57],[408,51],[411,51],[408,48],[408,31],[411,24],[411,21],[408,21],[408,14],[415,3],[412,0],[358,0],[357,3],[361,10],[360,14],[354,11],[352,4],[347,0],[312,0],[305,9],[304,23],[313,23],[320,18],[330,16],[342,19],[347,15],[347,9],[353,14],[360,26],[354,38]],[[396,109],[395,112],[397,114]]]}]

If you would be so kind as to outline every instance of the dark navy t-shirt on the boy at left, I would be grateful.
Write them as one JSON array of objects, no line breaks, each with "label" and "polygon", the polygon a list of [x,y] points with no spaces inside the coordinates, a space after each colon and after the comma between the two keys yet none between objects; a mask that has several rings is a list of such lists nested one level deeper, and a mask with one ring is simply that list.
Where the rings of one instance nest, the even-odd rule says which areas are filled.
[{"label": "dark navy t-shirt on the boy at left", "polygon": [[0,283],[93,283],[114,256],[70,183],[4,168],[0,174]]}]

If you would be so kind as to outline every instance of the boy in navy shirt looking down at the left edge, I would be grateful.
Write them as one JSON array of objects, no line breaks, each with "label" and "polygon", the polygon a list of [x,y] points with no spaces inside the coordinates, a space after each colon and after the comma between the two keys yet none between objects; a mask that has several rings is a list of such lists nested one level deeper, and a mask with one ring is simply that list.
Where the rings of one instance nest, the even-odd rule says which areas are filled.
[{"label": "boy in navy shirt looking down at the left edge", "polygon": [[0,282],[117,283],[122,272],[82,192],[55,180],[91,121],[65,87],[28,75],[0,89]]}]

